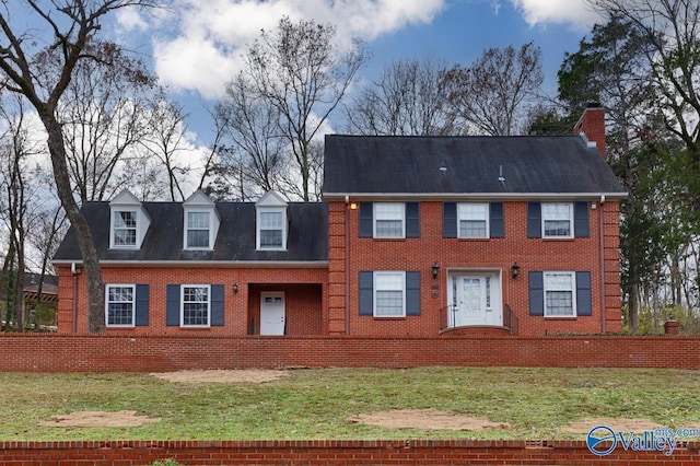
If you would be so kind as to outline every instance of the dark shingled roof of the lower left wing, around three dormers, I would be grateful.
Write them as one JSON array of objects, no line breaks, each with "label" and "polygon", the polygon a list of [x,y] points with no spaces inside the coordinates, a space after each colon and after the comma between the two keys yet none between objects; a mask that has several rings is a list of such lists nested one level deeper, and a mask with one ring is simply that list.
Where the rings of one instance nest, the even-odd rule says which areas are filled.
[{"label": "dark shingled roof of the lower left wing, around three dormers", "polygon": [[[213,251],[183,249],[184,211],[180,202],[143,202],[151,224],[140,249],[109,249],[109,202],[85,202],[101,260],[328,260],[328,209],[319,202],[288,205],[287,251],[256,251],[255,203],[217,202],[221,225]],[[54,260],[80,260],[73,229],[68,231]]]}]

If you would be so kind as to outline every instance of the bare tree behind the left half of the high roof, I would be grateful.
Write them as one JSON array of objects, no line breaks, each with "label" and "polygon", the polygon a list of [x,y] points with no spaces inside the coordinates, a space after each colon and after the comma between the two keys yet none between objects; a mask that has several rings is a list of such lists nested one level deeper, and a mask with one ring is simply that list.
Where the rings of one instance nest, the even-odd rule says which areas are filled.
[{"label": "bare tree behind the left half of the high roof", "polygon": [[346,108],[349,131],[364,136],[454,133],[444,73],[445,66],[430,59],[392,63]]}]

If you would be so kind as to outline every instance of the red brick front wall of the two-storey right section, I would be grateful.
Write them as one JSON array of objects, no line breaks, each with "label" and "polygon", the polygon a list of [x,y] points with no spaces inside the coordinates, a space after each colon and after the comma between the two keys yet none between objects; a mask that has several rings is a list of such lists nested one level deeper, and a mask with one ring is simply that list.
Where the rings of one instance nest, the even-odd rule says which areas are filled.
[{"label": "red brick front wall of the two-storey right section", "polygon": [[[345,331],[347,280],[349,335],[436,335],[441,330],[441,312],[448,306],[446,288],[448,273],[453,270],[497,272],[500,276],[503,304],[509,305],[517,318],[518,335],[620,331],[619,203],[600,202],[598,199],[588,201],[588,207],[590,235],[585,238],[527,237],[527,202],[506,201],[504,237],[458,240],[443,237],[442,201],[424,201],[420,203],[420,237],[381,240],[359,237],[358,210],[345,202],[329,202],[330,334],[342,335]],[[347,275],[346,255],[350,257]],[[515,263],[520,266],[520,273],[512,278],[511,267]],[[440,267],[436,278],[432,278],[433,265]],[[421,315],[401,318],[359,315],[358,276],[361,270],[420,271]],[[593,278],[592,315],[575,318],[530,316],[527,279],[530,270],[590,271]]]}]

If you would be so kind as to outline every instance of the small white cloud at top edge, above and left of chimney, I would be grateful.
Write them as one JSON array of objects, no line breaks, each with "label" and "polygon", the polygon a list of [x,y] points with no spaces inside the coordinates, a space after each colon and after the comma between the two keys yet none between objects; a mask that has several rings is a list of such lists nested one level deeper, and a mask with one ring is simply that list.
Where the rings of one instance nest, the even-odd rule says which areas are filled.
[{"label": "small white cloud at top edge, above and left of chimney", "polygon": [[576,31],[587,32],[600,20],[585,0],[511,0],[516,9],[522,10],[525,21],[530,26],[546,23],[569,24]]}]

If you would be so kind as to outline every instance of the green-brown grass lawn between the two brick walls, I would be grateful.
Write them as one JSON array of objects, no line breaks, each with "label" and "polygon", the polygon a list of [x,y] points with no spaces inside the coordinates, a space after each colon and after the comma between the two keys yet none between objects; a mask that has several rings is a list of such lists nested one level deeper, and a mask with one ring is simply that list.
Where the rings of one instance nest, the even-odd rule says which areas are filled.
[{"label": "green-brown grass lawn between the two brick walls", "polygon": [[[700,428],[698,386],[700,372],[629,369],[320,369],[262,384],[5,372],[0,373],[0,440],[583,439],[562,428],[603,417]],[[396,430],[347,420],[429,408],[483,416],[511,428]],[[131,428],[38,426],[54,415],[120,410],[161,421]]]}]

